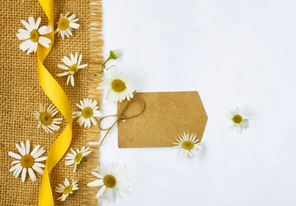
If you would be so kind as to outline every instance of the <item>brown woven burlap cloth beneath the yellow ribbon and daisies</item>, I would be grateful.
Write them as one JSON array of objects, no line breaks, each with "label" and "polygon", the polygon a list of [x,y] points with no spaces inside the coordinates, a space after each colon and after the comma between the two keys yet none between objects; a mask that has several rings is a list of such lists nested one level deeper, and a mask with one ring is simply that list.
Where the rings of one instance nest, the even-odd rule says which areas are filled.
[{"label": "brown woven burlap cloth beneath the yellow ribbon and daisies", "polygon": [[[37,146],[49,148],[65,129],[67,122],[62,121],[61,129],[53,133],[46,133],[43,129],[37,129],[37,119],[33,112],[39,108],[39,103],[49,105],[51,102],[40,88],[37,79],[36,54],[26,55],[19,49],[20,41],[16,37],[17,30],[24,28],[21,20],[28,21],[33,16],[35,20],[41,17],[40,26],[47,25],[48,20],[38,0],[0,0],[0,205],[2,206],[37,206],[38,192],[42,175],[35,172],[37,181],[31,181],[29,175],[25,183],[21,183],[21,175],[14,178],[9,173],[11,162],[14,158],[8,156],[8,151],[19,153],[15,147],[16,143],[31,142],[31,151]],[[95,73],[101,70],[102,65],[102,39],[101,39],[101,1],[100,0],[56,0],[54,4],[55,22],[58,21],[60,13],[67,12],[76,14],[79,18],[79,29],[74,29],[71,38],[62,39],[55,34],[52,50],[44,61],[44,66],[58,81],[60,86],[68,95],[72,105],[72,111],[77,111],[75,103],[80,99],[92,98],[100,103],[100,92],[95,88],[100,82],[100,75]],[[56,29],[56,25],[55,25]],[[39,45],[40,46],[40,45]],[[88,66],[77,72],[74,76],[75,87],[66,85],[67,76],[57,77],[57,73],[64,70],[57,67],[63,64],[64,56],[70,57],[71,53],[81,53],[81,63]],[[95,74],[95,75],[94,75]],[[62,117],[58,113],[57,118]],[[73,168],[65,166],[65,156],[50,173],[51,188],[55,205],[59,206],[84,206],[97,205],[93,198],[96,190],[86,184],[95,180],[90,171],[98,164],[98,146],[89,146],[87,142],[98,142],[98,127],[84,128],[73,122],[73,140],[70,147],[91,147],[92,153],[87,156],[87,161],[77,166],[76,173]],[[68,150],[70,153],[70,148]],[[43,164],[45,163],[42,162]],[[78,180],[79,189],[75,196],[69,196],[65,202],[56,200],[61,196],[54,191],[58,183],[63,183],[65,177]]]}]

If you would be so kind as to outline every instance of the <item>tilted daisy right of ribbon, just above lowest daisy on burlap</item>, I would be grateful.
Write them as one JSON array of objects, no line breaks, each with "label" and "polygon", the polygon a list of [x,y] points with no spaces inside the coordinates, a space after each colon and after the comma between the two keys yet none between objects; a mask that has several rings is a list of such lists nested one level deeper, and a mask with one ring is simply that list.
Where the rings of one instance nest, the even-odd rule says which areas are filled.
[{"label": "tilted daisy right of ribbon, just above lowest daisy on burlap", "polygon": [[73,165],[74,164],[74,166],[71,166],[71,167],[74,167],[74,173],[76,172],[77,165],[80,164],[80,161],[82,160],[82,162],[83,161],[85,162],[84,157],[91,152],[91,151],[88,151],[88,149],[89,149],[89,147],[85,148],[83,146],[80,151],[77,148],[77,152],[75,152],[74,149],[71,148],[72,154],[68,153],[67,157],[65,157],[65,159],[70,159],[65,162],[66,165]]}]

